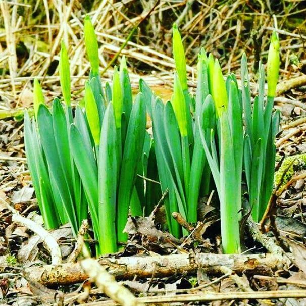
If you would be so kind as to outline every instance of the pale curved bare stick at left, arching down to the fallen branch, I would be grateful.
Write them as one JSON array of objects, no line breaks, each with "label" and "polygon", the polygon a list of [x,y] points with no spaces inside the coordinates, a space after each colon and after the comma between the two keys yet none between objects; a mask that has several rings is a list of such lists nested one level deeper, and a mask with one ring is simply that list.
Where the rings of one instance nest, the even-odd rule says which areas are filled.
[{"label": "pale curved bare stick at left, arching down to the fallen branch", "polygon": [[4,199],[0,197],[0,200],[6,205],[6,207],[12,212],[12,221],[25,225],[28,229],[37,234],[46,245],[50,252],[52,259],[52,265],[60,265],[62,263],[61,249],[57,241],[46,231],[42,226],[35,223],[33,220],[22,217],[13,207],[9,205]]}]

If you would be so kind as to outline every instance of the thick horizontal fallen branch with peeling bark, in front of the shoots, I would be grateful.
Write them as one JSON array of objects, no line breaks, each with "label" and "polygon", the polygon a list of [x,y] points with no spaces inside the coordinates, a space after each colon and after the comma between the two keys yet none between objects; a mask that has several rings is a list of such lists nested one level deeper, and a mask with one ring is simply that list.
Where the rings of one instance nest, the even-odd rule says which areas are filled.
[{"label": "thick horizontal fallen branch with peeling bark, in front of the shoots", "polygon": [[[212,253],[180,254],[157,257],[102,258],[99,264],[117,279],[167,277],[190,274],[199,267],[207,273],[218,273],[225,266],[234,272],[254,270],[258,266],[281,269],[285,261],[279,254],[226,255]],[[29,278],[45,286],[79,283],[88,277],[79,263],[26,268]]]}]

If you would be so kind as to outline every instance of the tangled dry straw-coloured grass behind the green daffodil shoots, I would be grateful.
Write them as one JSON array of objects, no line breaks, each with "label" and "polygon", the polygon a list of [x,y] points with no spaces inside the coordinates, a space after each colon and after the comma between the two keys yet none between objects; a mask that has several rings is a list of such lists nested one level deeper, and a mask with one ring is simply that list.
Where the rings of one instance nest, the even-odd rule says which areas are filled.
[{"label": "tangled dry straw-coloured grass behind the green daffodil shoots", "polygon": [[[132,71],[134,88],[138,87],[140,77],[155,85],[162,95],[164,88],[166,92],[171,88],[173,22],[179,25],[183,35],[190,85],[194,85],[194,68],[201,47],[219,58],[225,72],[239,69],[244,51],[253,59],[251,68],[257,67],[259,58],[265,61],[269,36],[276,25],[272,13],[276,15],[281,38],[283,78],[300,74],[304,59],[303,34],[306,34],[305,9],[300,2],[1,1],[0,111],[29,107],[34,77],[41,80],[47,100],[61,95],[57,67],[61,40],[69,46],[72,90],[74,100],[79,100],[89,73],[83,39],[85,15],[91,16],[96,29],[103,72],[152,7],[152,12],[121,51]],[[108,80],[111,75],[112,68],[103,78]]]}]

